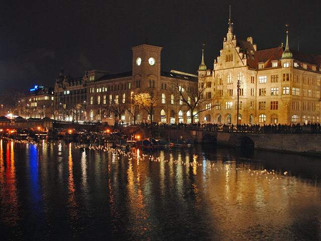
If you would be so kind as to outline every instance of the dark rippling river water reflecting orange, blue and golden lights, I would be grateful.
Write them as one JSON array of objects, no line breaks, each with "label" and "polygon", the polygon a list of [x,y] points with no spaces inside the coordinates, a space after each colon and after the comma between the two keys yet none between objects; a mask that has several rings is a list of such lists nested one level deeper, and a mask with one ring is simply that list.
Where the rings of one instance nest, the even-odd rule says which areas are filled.
[{"label": "dark rippling river water reflecting orange, blue and golden lights", "polygon": [[321,240],[319,157],[0,140],[1,240]]}]

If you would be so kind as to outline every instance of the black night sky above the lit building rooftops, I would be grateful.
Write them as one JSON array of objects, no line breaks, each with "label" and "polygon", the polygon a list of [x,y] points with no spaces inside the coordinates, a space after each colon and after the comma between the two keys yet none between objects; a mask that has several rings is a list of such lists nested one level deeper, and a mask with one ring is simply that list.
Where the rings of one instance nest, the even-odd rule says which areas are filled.
[{"label": "black night sky above the lit building rooftops", "polygon": [[321,1],[6,1],[0,14],[0,93],[11,87],[54,85],[61,67],[82,77],[85,70],[131,70],[131,47],[163,47],[162,69],[196,74],[205,43],[213,67],[228,30],[253,37],[258,50],[285,43],[321,54]]}]

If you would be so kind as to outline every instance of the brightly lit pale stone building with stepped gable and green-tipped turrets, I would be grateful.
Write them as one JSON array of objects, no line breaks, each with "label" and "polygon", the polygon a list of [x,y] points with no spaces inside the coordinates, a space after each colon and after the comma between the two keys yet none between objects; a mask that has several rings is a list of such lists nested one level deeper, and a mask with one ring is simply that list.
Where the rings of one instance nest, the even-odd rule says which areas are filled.
[{"label": "brightly lit pale stone building with stepped gable and green-tipped turrets", "polygon": [[285,48],[257,50],[252,37],[236,39],[232,26],[213,69],[202,59],[198,70],[199,88],[214,96],[213,107],[201,113],[201,121],[319,123],[321,56],[290,50],[288,36]]}]

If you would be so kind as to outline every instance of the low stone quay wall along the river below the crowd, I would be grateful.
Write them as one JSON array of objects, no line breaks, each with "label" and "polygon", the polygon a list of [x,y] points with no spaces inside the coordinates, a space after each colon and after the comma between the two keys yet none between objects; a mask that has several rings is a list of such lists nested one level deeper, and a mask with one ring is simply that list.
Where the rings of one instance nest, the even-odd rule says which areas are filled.
[{"label": "low stone quay wall along the river below the crowd", "polygon": [[308,153],[321,155],[321,134],[312,133],[249,133],[213,132],[204,130],[140,130],[144,137],[163,137],[169,139],[191,139],[197,143],[242,147],[242,143],[252,143],[255,149],[282,152]]}]

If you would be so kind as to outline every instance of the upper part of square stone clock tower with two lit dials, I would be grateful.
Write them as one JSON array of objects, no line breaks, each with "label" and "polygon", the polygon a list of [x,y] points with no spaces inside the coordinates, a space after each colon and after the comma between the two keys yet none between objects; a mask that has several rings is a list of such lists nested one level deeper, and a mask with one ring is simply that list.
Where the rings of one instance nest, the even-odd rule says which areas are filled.
[{"label": "upper part of square stone clock tower with two lit dials", "polygon": [[[132,47],[133,87],[158,88],[161,79],[162,47],[139,45]],[[151,91],[150,91],[151,92]]]}]

